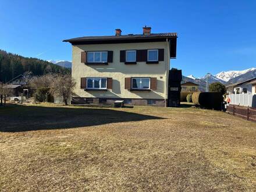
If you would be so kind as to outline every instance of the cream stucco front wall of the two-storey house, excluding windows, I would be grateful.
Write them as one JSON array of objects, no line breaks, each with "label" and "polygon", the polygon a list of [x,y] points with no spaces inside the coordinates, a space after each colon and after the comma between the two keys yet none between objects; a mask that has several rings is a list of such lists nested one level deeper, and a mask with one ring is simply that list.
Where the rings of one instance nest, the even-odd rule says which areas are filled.
[{"label": "cream stucco front wall of the two-storey house, excluding windows", "polygon": [[[120,50],[126,49],[165,49],[164,61],[159,64],[137,62],[136,65],[120,63]],[[108,65],[85,65],[81,63],[82,51],[113,51],[113,62]],[[72,46],[72,77],[76,81],[76,97],[97,98],[166,98],[166,79],[168,78],[170,57],[168,42],[142,42],[128,44],[98,44]],[[80,88],[81,77],[112,77],[112,90],[85,91]],[[150,92],[129,91],[125,89],[125,77],[157,77],[157,90]]]}]

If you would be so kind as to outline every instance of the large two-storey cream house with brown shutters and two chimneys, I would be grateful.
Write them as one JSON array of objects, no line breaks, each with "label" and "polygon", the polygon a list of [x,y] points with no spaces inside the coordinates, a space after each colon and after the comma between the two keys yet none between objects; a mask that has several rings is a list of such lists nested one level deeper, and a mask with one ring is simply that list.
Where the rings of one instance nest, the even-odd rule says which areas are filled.
[{"label": "large two-storey cream house with brown shutters and two chimneys", "polygon": [[79,37],[72,44],[72,102],[167,106],[170,59],[176,58],[177,33]]}]

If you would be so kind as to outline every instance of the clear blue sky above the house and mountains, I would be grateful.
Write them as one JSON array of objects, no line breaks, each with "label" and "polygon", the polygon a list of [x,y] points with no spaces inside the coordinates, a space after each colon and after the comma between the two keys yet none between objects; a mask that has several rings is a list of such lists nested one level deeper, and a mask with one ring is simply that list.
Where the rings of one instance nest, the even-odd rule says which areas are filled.
[{"label": "clear blue sky above the house and mountains", "polygon": [[0,49],[71,61],[63,39],[85,35],[177,32],[171,67],[196,77],[256,66],[256,1],[0,0]]}]

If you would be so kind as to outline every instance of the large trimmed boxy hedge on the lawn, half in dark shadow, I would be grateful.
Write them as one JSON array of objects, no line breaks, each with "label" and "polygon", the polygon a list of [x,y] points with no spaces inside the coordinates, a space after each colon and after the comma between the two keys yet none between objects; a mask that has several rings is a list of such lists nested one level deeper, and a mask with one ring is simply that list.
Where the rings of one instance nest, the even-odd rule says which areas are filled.
[{"label": "large trimmed boxy hedge on the lawn, half in dark shadow", "polygon": [[196,92],[192,95],[192,101],[195,105],[200,105],[207,109],[221,110],[223,97],[221,93]]}]

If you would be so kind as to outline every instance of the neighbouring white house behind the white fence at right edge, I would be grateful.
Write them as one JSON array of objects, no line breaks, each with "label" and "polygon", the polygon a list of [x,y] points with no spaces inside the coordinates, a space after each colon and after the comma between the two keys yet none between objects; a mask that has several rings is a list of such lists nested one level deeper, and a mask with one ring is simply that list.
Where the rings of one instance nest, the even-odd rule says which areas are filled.
[{"label": "neighbouring white house behind the white fence at right edge", "polygon": [[256,94],[255,87],[256,78],[226,85],[229,94]]}]

